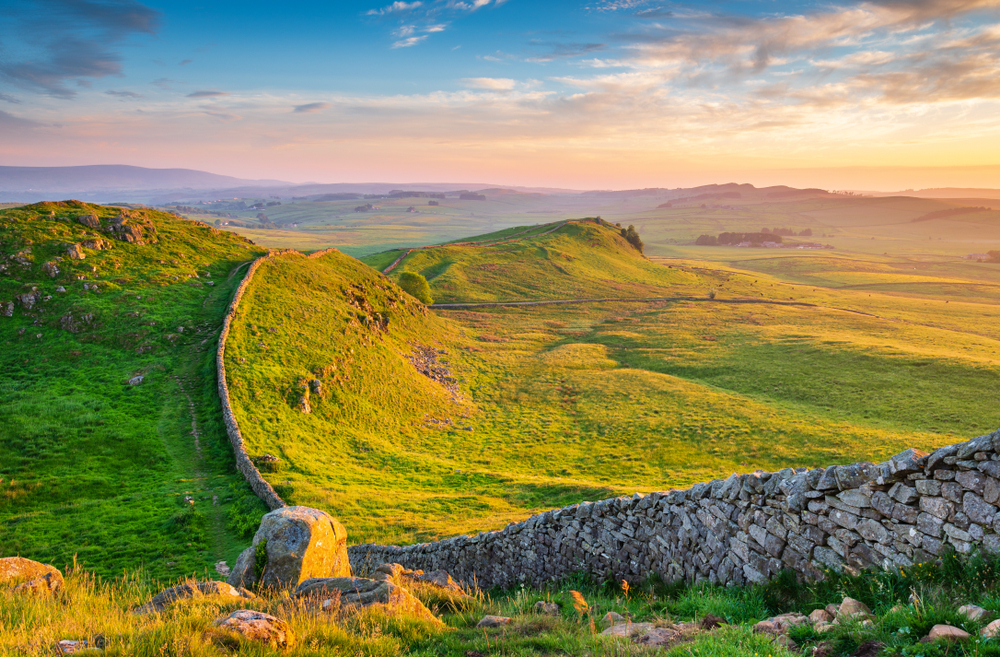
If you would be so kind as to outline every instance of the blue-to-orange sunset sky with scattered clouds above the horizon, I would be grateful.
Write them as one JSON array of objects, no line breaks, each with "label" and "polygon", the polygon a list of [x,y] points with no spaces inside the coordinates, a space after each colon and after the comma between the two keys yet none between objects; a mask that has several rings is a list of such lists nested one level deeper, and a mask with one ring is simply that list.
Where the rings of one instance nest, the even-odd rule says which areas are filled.
[{"label": "blue-to-orange sunset sky with scattered clouds above the horizon", "polygon": [[0,0],[0,165],[1000,188],[1000,0]]}]

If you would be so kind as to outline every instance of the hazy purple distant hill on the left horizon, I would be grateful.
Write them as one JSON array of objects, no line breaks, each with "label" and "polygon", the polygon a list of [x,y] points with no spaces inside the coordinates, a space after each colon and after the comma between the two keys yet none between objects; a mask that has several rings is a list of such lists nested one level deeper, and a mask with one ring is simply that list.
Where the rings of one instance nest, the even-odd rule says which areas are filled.
[{"label": "hazy purple distant hill on the left horizon", "polygon": [[122,164],[81,167],[0,167],[0,191],[99,192],[154,189],[288,185],[279,180],[243,180],[194,169],[146,169]]}]

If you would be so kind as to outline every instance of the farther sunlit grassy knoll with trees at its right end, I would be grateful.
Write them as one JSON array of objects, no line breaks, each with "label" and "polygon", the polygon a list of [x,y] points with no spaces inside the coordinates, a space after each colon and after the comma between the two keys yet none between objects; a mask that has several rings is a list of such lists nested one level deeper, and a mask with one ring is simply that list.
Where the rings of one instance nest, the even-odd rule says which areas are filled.
[{"label": "farther sunlit grassy knoll with trees at its right end", "polygon": [[[427,278],[437,303],[527,301],[580,297],[641,298],[707,289],[691,272],[654,264],[616,226],[600,220],[512,229],[489,241],[412,251],[390,273]],[[364,258],[382,264],[385,257]]]}]

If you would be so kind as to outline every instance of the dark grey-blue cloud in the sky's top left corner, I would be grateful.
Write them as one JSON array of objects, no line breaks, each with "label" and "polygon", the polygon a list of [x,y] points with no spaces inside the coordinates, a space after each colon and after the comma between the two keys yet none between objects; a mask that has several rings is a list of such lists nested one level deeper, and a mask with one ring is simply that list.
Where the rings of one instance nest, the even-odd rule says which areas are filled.
[{"label": "dark grey-blue cloud in the sky's top left corner", "polygon": [[136,0],[19,0],[4,7],[9,42],[0,50],[0,79],[72,98],[67,85],[121,75],[118,48],[155,33],[160,13]]}]

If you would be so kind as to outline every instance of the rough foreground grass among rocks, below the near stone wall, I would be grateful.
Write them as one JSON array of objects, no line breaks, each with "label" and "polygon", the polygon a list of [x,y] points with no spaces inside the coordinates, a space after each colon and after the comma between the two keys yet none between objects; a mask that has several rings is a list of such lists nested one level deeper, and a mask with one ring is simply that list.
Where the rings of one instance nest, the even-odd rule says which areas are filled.
[{"label": "rough foreground grass among rocks, below the near stone wall", "polygon": [[[1000,641],[979,637],[985,621],[970,621],[957,608],[978,604],[996,615],[1000,598],[1000,558],[974,555],[944,558],[941,565],[851,576],[827,573],[822,582],[801,584],[791,573],[763,586],[722,588],[709,585],[664,585],[645,582],[598,583],[579,577],[543,589],[479,591],[455,597],[421,583],[406,584],[443,623],[387,615],[375,610],[334,607],[320,612],[285,595],[263,595],[230,602],[219,598],[189,599],[162,613],[137,615],[132,610],[157,592],[149,573],[134,571],[102,580],[73,568],[66,591],[55,598],[16,596],[0,590],[0,654],[47,655],[63,639],[104,639],[108,655],[440,655],[473,653],[511,656],[589,654],[594,656],[668,657],[788,657],[801,654],[754,634],[756,622],[779,613],[808,614],[852,597],[873,611],[873,622],[846,622],[819,634],[811,626],[790,632],[798,650],[809,654],[825,646],[829,655],[847,657],[863,644],[881,646],[879,655],[1000,654]],[[582,599],[583,605],[580,600]],[[554,616],[537,613],[539,602],[556,603]],[[256,609],[286,621],[295,635],[284,651],[233,639],[215,629],[214,621],[236,609]],[[601,636],[602,617],[614,612],[632,623],[674,627],[698,623],[707,616],[724,625],[714,631],[689,631],[690,640],[657,651],[624,639]],[[512,623],[497,629],[477,629],[484,615],[505,616]],[[592,629],[591,621],[594,626]],[[936,624],[967,630],[972,637],[956,643],[927,644],[920,638]]]}]

